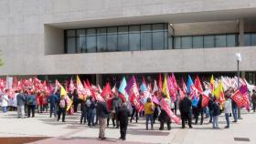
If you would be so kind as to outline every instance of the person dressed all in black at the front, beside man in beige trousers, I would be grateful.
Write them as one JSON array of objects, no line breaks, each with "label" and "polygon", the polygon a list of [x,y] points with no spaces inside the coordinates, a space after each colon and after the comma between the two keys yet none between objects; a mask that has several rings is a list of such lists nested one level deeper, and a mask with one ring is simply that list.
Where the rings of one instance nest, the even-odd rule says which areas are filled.
[{"label": "person dressed all in black at the front, beside man in beige trousers", "polygon": [[116,112],[116,118],[120,122],[120,139],[126,139],[126,130],[128,126],[128,117],[129,117],[129,110],[126,107],[126,103],[122,104],[122,107],[119,108]]}]

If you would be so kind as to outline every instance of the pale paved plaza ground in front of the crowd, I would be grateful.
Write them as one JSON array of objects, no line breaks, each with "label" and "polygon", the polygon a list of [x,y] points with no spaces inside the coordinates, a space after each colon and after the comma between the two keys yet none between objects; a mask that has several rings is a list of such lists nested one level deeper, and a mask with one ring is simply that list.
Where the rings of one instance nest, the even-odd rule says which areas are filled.
[{"label": "pale paved plaza ground in front of the crowd", "polygon": [[[231,118],[231,121],[233,118]],[[126,141],[118,139],[119,129],[106,129],[106,140],[98,139],[98,127],[89,128],[80,125],[80,113],[67,116],[66,123],[48,118],[48,113],[36,114],[36,118],[16,118],[16,112],[0,113],[0,137],[46,137],[31,144],[69,144],[69,143],[172,143],[172,144],[255,144],[256,114],[242,111],[242,119],[231,123],[230,129],[224,129],[226,121],[221,114],[219,126],[212,129],[205,118],[204,125],[193,125],[194,129],[180,129],[172,124],[170,131],[159,131],[159,123],[154,130],[145,130],[145,120],[129,123]],[[250,141],[248,141],[250,140]],[[2,143],[1,143],[2,144]],[[3,143],[4,144],[4,143]]]}]

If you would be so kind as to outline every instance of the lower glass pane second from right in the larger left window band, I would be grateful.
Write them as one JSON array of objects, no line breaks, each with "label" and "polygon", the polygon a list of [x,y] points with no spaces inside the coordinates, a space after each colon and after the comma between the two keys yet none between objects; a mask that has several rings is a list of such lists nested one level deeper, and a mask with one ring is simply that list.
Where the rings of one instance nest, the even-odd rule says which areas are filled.
[{"label": "lower glass pane second from right in the larger left window band", "polygon": [[141,50],[152,50],[152,33],[141,33]]}]

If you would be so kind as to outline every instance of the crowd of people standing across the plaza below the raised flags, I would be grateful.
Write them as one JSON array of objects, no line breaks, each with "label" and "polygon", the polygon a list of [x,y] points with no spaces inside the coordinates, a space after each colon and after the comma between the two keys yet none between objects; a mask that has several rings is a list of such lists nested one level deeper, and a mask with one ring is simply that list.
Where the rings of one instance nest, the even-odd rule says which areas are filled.
[{"label": "crowd of people standing across the plaza below the raised flags", "polygon": [[[8,89],[5,89],[6,93]],[[186,128],[186,123],[189,129],[192,129],[192,125],[197,125],[198,118],[200,116],[199,124],[204,124],[204,119],[209,118],[209,123],[212,123],[213,129],[219,129],[219,115],[224,113],[227,121],[225,129],[229,129],[229,118],[233,117],[233,122],[238,121],[238,106],[230,97],[233,95],[234,89],[229,88],[225,92],[225,102],[219,103],[216,97],[209,93],[208,105],[202,106],[202,96],[199,95],[197,105],[193,105],[191,98],[188,94],[185,98],[178,97],[176,102],[173,102],[170,98],[167,98],[162,92],[155,92],[157,98],[160,98],[160,103],[165,101],[173,112],[177,113],[177,108],[180,112],[181,128]],[[128,123],[138,122],[139,118],[145,117],[145,129],[155,129],[154,125],[156,119],[158,119],[160,126],[159,130],[165,129],[165,123],[167,129],[171,129],[172,119],[168,116],[164,108],[161,108],[161,104],[156,104],[152,98],[147,98],[144,103],[144,109],[138,111],[135,106],[127,101],[123,101],[119,97],[119,92],[113,93],[113,96],[103,97],[103,101],[97,101],[92,96],[86,99],[80,99],[77,91],[68,93],[69,98],[72,99],[73,104],[71,108],[68,107],[67,100],[64,95],[60,95],[59,90],[52,92],[47,96],[44,92],[33,92],[29,90],[16,90],[14,98],[8,98],[6,95],[1,95],[1,103],[3,113],[8,110],[17,111],[17,118],[34,118],[37,113],[48,112],[49,118],[61,118],[62,122],[65,122],[66,113],[72,115],[73,113],[80,112],[80,124],[87,124],[89,127],[95,127],[99,125],[99,139],[106,139],[105,129],[110,127],[110,119],[112,120],[112,127],[120,129],[120,139],[126,139],[126,130]],[[256,110],[256,91],[252,91],[251,95],[252,109]],[[80,106],[80,107],[79,107]],[[79,109],[80,108],[80,109]],[[49,109],[49,111],[48,111]],[[68,110],[67,110],[68,109]],[[129,120],[130,117],[130,120]],[[192,123],[193,119],[195,122]],[[79,119],[78,119],[79,120]]]}]

